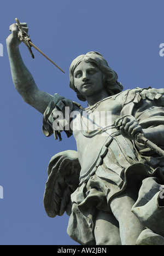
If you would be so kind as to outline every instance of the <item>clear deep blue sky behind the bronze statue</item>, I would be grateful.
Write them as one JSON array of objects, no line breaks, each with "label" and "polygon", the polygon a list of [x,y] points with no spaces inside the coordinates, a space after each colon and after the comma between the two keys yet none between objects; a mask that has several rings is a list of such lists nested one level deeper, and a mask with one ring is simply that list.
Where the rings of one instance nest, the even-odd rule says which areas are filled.
[{"label": "clear deep blue sky behind the bronze statue", "polygon": [[[31,40],[66,73],[33,49],[20,51],[40,90],[81,103],[69,88],[75,57],[99,51],[124,89],[163,88],[163,0],[5,0],[0,3],[0,245],[77,245],[67,235],[68,216],[49,218],[43,195],[52,155],[76,149],[73,136],[62,142],[42,133],[42,115],[14,88],[5,39],[18,18]],[[85,103],[81,103],[86,106]]]}]

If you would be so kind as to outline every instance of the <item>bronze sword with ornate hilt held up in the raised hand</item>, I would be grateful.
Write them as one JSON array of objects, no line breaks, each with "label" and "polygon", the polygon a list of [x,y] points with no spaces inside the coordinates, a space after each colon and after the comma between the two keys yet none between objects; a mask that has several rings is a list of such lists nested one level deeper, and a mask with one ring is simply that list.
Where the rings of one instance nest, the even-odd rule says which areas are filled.
[{"label": "bronze sword with ornate hilt held up in the raised hand", "polygon": [[27,33],[24,31],[24,29],[22,28],[22,26],[21,26],[21,24],[20,24],[20,22],[19,22],[19,20],[18,20],[17,18],[15,19],[15,21],[16,21],[16,23],[17,23],[17,27],[19,28],[19,31],[21,32],[21,36],[22,36],[22,38],[23,38],[23,42],[26,44],[28,50],[29,50],[30,53],[31,53],[32,59],[34,59],[34,55],[33,55],[32,50],[31,50],[31,47],[33,46],[33,48],[35,48],[37,51],[39,51],[40,54],[42,54],[46,59],[48,59],[52,64],[54,64],[54,65],[55,65],[58,69],[60,69],[63,73],[65,73],[65,72],[63,71],[63,69],[61,69],[60,67],[58,67],[54,61],[52,61],[48,56],[46,56],[42,51],[40,51],[40,49],[39,49],[36,45],[34,45],[34,44],[31,42],[31,38],[30,38],[29,34],[27,34]]}]

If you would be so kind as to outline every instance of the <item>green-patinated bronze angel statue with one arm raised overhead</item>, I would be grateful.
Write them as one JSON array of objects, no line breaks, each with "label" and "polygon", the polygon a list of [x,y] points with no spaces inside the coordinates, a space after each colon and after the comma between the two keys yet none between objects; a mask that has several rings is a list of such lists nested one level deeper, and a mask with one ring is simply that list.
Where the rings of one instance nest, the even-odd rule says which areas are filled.
[{"label": "green-patinated bronze angel statue with one arm raised overhead", "polygon": [[[27,31],[27,24],[21,25]],[[77,143],[77,151],[50,160],[48,216],[66,212],[68,235],[80,245],[164,245],[164,155],[135,139],[140,133],[163,149],[164,89],[123,91],[116,72],[91,51],[73,60],[69,70],[71,89],[88,103],[83,108],[38,89],[20,55],[17,25],[10,30],[7,49],[16,90],[43,114],[45,136],[61,140],[64,131]]]}]

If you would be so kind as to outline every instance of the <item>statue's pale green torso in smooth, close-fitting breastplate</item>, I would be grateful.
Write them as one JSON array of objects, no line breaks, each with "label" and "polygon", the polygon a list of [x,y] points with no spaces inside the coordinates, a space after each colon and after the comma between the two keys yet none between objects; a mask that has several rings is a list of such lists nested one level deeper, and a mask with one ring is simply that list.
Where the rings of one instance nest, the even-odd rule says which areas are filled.
[{"label": "statue's pale green torso in smooth, close-fitting breastplate", "polygon": [[[121,110],[122,93],[117,97],[111,96],[98,102],[95,108],[78,110],[79,114],[73,119],[73,135],[77,142],[78,158],[81,165],[80,176],[85,176],[96,165],[103,145],[111,136],[118,133],[114,121],[120,118]],[[95,117],[95,121],[93,117]]]}]

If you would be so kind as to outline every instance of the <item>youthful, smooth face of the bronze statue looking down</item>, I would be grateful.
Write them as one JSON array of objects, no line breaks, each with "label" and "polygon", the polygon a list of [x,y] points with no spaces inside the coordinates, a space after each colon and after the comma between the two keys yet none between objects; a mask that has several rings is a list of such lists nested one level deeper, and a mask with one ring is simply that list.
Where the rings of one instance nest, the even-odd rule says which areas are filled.
[{"label": "youthful, smooth face of the bronze statue looking down", "polygon": [[81,61],[74,71],[74,85],[81,95],[94,96],[104,89],[103,74],[92,63]]}]

